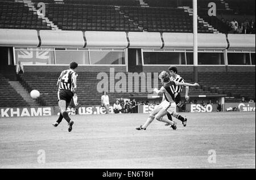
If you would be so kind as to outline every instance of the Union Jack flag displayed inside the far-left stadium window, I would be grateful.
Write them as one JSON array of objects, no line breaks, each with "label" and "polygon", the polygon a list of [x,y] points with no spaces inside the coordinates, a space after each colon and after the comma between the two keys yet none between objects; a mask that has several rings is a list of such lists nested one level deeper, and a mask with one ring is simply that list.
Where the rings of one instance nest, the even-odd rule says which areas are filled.
[{"label": "Union Jack flag displayed inside the far-left stadium window", "polygon": [[51,63],[49,50],[18,50],[18,61],[23,65],[47,65]]}]

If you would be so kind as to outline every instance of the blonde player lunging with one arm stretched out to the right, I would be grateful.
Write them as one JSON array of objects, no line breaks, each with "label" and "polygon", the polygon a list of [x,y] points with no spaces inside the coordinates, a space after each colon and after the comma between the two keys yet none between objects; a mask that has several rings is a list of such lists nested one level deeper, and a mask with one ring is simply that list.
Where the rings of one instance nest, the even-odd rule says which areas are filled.
[{"label": "blonde player lunging with one arm stretched out to the right", "polygon": [[176,103],[175,96],[177,93],[175,92],[176,85],[185,85],[185,86],[199,86],[198,83],[190,84],[190,83],[180,83],[171,81],[170,75],[166,71],[162,71],[159,75],[159,79],[161,80],[163,86],[158,89],[154,89],[154,92],[158,94],[163,94],[165,100],[161,102],[161,104],[154,109],[147,118],[147,121],[143,126],[137,127],[137,130],[146,130],[146,128],[150,125],[150,123],[156,119],[158,121],[166,122],[171,125],[172,128],[176,129],[176,123],[164,118],[164,115],[170,113],[177,119],[184,121],[184,118],[181,115],[177,114],[175,111]]}]

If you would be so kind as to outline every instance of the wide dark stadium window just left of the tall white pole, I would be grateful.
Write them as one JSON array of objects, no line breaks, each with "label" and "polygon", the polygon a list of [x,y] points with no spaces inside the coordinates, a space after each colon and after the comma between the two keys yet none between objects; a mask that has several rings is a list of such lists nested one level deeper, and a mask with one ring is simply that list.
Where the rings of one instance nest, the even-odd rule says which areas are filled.
[{"label": "wide dark stadium window just left of the tall white pole", "polygon": [[144,65],[185,65],[185,53],[143,52]]}]

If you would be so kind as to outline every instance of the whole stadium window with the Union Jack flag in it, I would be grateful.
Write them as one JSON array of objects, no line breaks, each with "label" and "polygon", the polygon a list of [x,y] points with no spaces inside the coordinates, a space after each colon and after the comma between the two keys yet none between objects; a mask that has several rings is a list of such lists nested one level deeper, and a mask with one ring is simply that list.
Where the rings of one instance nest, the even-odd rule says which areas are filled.
[{"label": "whole stadium window with the Union Jack flag in it", "polygon": [[15,49],[15,61],[23,65],[54,65],[53,49],[26,48]]}]

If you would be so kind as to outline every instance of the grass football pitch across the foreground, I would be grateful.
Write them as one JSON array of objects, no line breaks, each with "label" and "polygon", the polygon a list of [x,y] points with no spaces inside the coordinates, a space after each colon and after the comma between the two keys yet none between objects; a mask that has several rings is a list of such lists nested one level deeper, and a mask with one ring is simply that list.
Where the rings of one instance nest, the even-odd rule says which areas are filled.
[{"label": "grass football pitch across the foreground", "polygon": [[72,115],[72,132],[57,116],[1,118],[0,168],[255,168],[255,112],[181,114],[187,127],[146,131],[148,114]]}]

